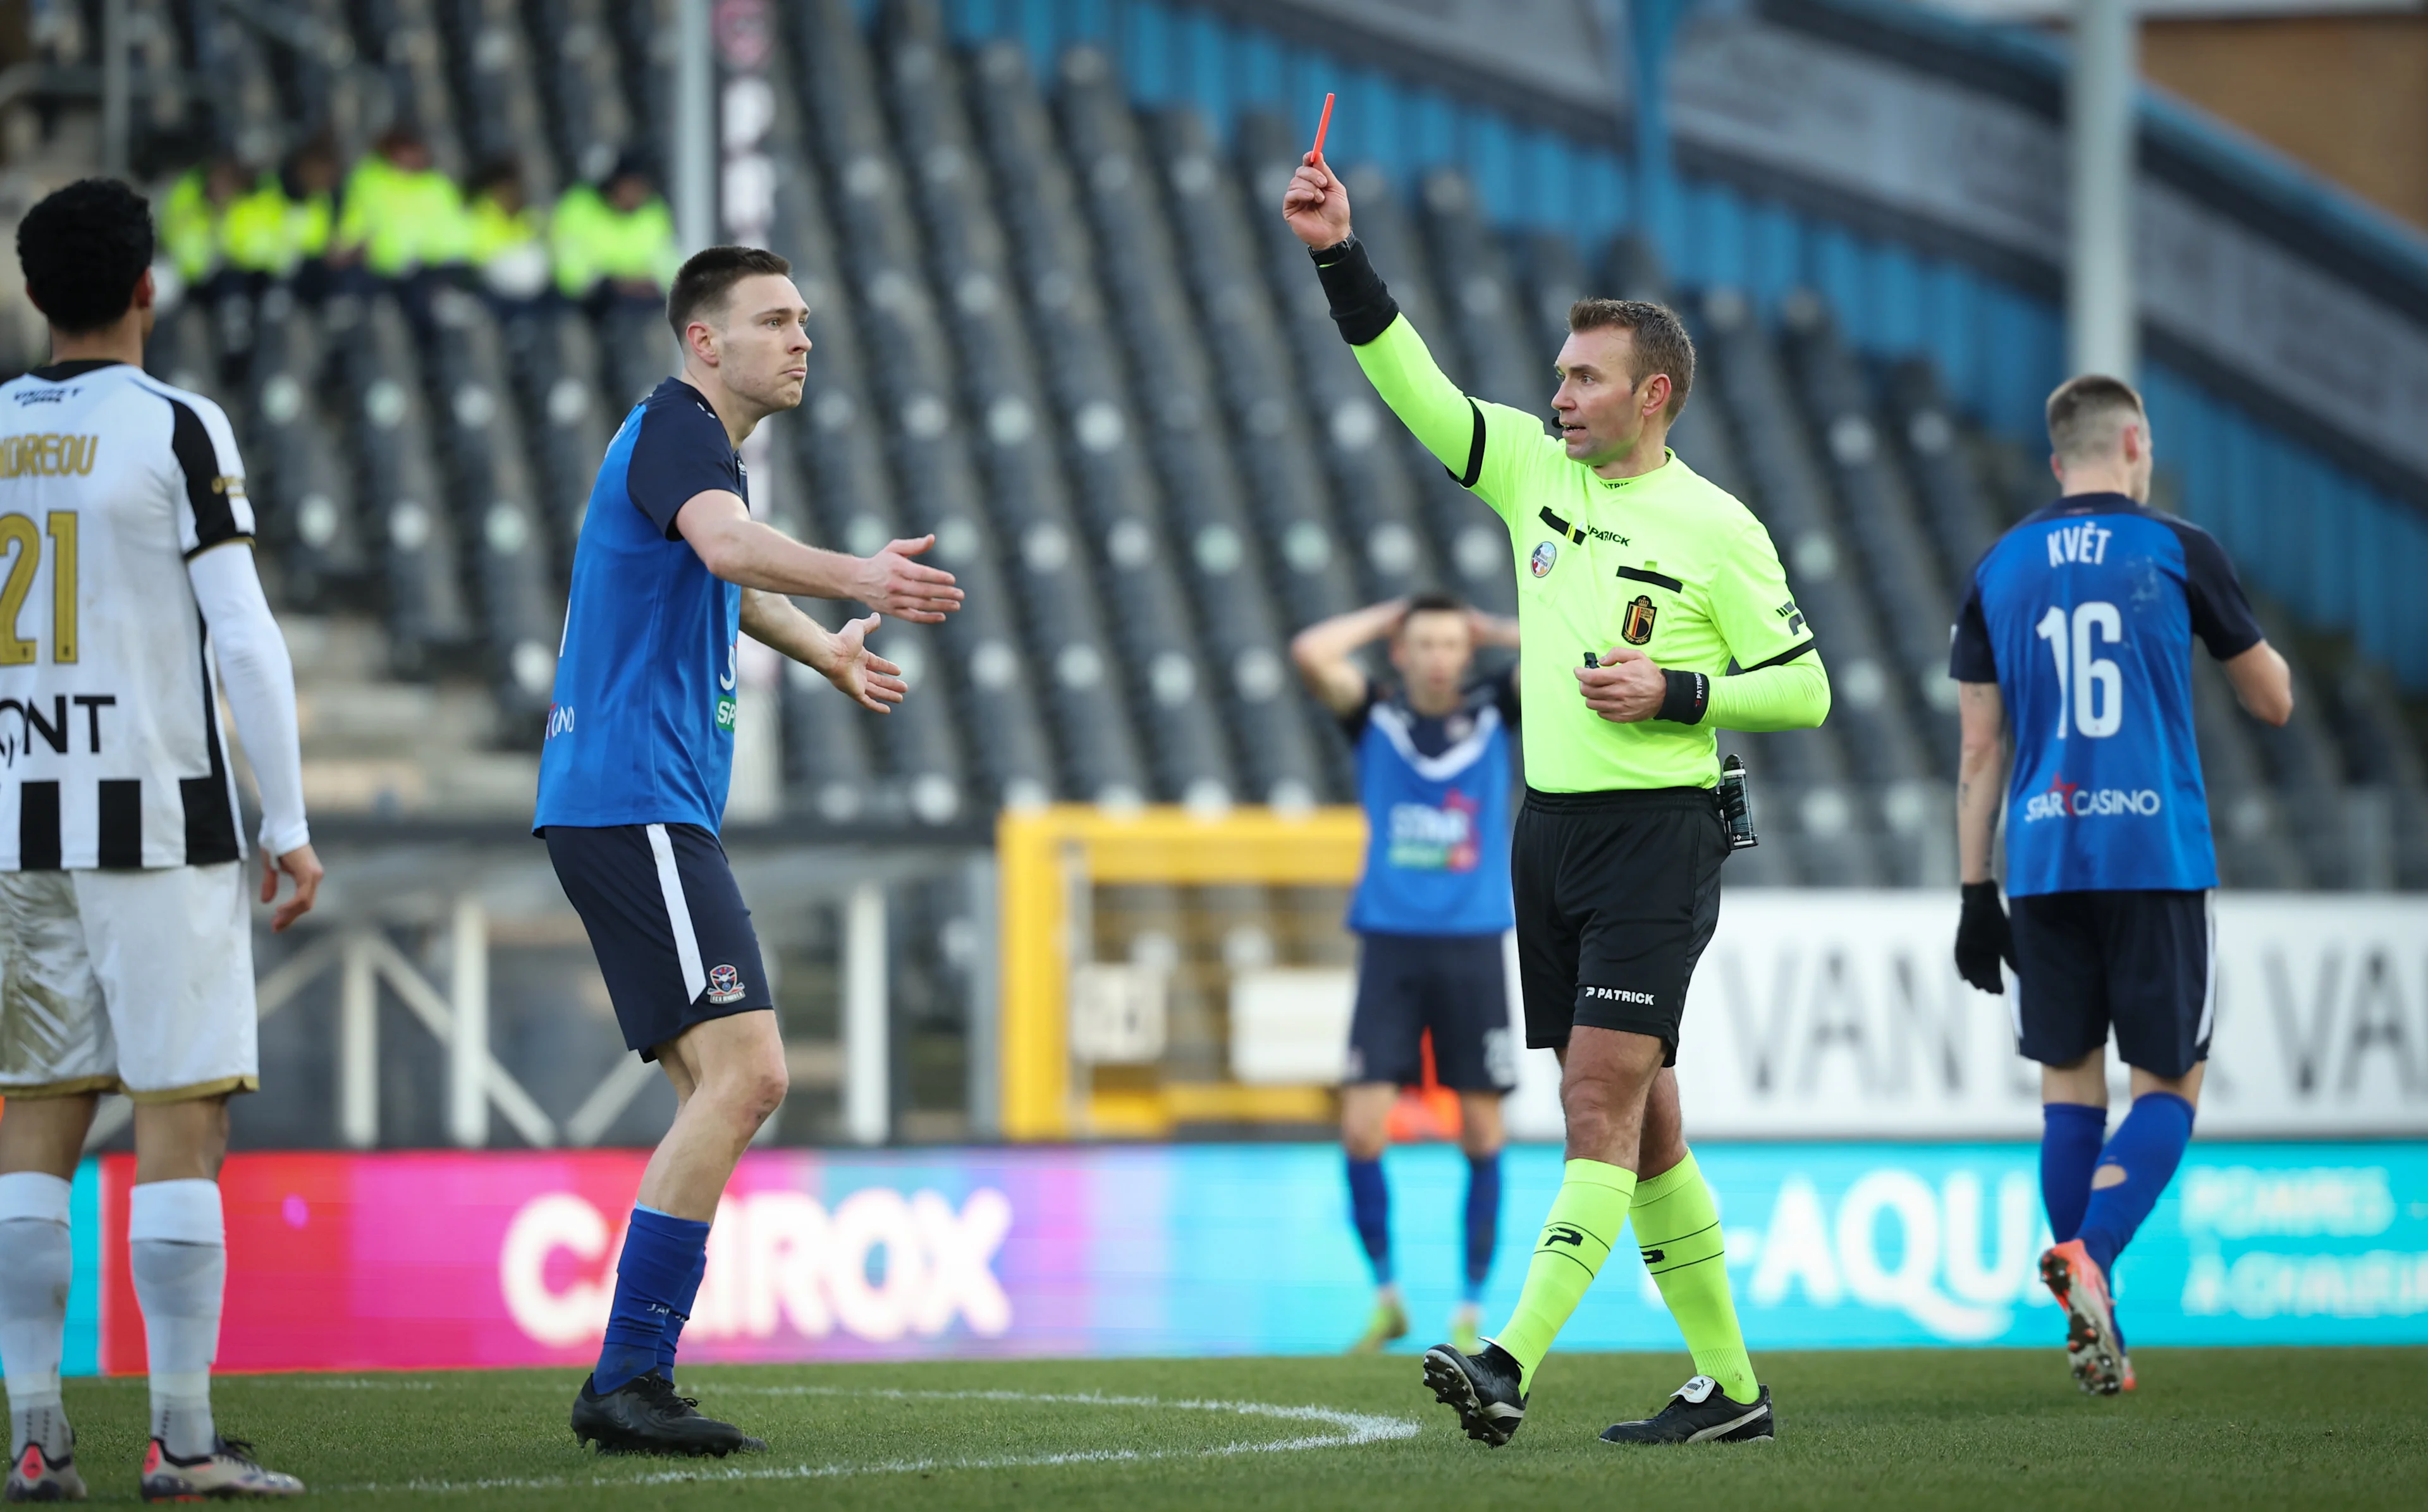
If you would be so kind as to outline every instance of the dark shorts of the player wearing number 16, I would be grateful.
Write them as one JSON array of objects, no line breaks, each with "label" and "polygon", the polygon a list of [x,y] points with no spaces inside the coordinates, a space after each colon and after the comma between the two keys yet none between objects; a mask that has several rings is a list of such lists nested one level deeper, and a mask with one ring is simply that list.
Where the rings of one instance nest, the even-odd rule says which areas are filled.
[{"label": "dark shorts of the player wearing number 16", "polygon": [[2108,1044],[2151,1075],[2190,1075],[2217,1022],[2217,922],[2207,893],[2098,891],[2008,898],[2015,1046],[2074,1065]]}]

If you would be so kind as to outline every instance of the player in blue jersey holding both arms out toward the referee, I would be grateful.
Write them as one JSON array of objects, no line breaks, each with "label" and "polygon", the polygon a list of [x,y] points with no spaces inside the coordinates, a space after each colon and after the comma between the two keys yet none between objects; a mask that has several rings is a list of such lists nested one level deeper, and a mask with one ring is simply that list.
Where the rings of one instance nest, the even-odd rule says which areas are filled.
[{"label": "player in blue jersey holding both arms out toward the referee", "polygon": [[784,595],[860,599],[937,621],[961,602],[930,541],[855,558],[750,519],[738,447],[801,403],[809,306],[792,265],[709,248],[675,277],[682,374],[607,444],[556,660],[532,828],[583,915],[624,1044],[675,1085],[675,1124],[641,1175],[597,1369],[573,1432],[600,1449],[762,1449],[675,1396],[675,1342],[699,1294],[709,1218],[736,1160],[784,1102],[784,1044],[726,852],[736,636],[816,667],[877,714],[906,687],[867,648],[877,614],[826,631]]}]

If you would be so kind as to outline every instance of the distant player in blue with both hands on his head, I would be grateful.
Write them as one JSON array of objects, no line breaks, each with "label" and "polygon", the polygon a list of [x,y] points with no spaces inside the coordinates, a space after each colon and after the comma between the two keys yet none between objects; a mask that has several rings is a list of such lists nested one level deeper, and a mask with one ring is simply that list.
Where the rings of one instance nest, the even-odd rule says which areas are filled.
[{"label": "distant player in blue with both hands on his head", "polygon": [[[1352,660],[1389,636],[1399,687]],[[1452,1337],[1476,1349],[1484,1277],[1501,1226],[1501,1099],[1518,1085],[1501,937],[1510,930],[1510,786],[1518,670],[1471,680],[1476,646],[1518,646],[1518,621],[1440,592],[1338,614],[1292,641],[1306,687],[1357,748],[1367,862],[1350,900],[1360,939],[1350,1075],[1340,1143],[1350,1216],[1374,1262],[1374,1315],[1357,1352],[1408,1332],[1391,1274],[1391,1194],[1384,1126],[1401,1087],[1420,1080],[1433,1029],[1435,1073],[1459,1095],[1467,1153],[1467,1272]]]}]

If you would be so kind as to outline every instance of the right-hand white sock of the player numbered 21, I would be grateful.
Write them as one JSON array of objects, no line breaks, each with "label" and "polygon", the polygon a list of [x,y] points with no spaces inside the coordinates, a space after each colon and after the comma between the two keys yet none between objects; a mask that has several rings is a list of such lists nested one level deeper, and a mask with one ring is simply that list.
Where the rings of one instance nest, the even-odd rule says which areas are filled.
[{"label": "right-hand white sock of the player numbered 21", "polygon": [[177,1459],[211,1454],[211,1359],[228,1238],[219,1184],[143,1182],[126,1204],[126,1269],[143,1303],[151,1349],[153,1437]]}]

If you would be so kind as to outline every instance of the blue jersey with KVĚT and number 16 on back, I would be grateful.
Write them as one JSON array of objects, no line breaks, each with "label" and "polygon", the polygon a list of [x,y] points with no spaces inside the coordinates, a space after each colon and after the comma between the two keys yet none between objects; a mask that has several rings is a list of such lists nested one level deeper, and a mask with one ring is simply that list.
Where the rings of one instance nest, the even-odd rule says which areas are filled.
[{"label": "blue jersey with KV\u011aT and number 16 on back", "polygon": [[2057,500],[1974,568],[1947,675],[1996,682],[2015,731],[2008,893],[2217,886],[2192,636],[2260,643],[2234,565],[2120,493]]}]

